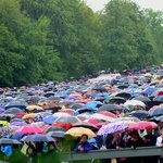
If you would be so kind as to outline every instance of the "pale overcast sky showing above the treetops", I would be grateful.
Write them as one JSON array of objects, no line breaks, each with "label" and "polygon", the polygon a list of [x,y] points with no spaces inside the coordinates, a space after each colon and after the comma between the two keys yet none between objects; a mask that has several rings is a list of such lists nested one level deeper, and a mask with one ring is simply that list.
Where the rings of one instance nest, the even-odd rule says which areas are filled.
[{"label": "pale overcast sky showing above the treetops", "polygon": [[[93,11],[99,11],[104,8],[110,0],[85,0]],[[152,9],[154,11],[163,11],[163,0],[131,0],[140,5],[142,9]]]}]

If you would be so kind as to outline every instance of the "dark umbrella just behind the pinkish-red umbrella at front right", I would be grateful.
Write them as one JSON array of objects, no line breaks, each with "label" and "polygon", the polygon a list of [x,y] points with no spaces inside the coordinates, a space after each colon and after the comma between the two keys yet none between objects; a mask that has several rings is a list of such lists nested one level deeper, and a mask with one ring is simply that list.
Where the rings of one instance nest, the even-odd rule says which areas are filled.
[{"label": "dark umbrella just behind the pinkish-red umbrella at front right", "polygon": [[149,113],[143,110],[138,110],[138,111],[133,111],[125,116],[135,116],[138,117],[139,120],[146,120],[148,117]]}]

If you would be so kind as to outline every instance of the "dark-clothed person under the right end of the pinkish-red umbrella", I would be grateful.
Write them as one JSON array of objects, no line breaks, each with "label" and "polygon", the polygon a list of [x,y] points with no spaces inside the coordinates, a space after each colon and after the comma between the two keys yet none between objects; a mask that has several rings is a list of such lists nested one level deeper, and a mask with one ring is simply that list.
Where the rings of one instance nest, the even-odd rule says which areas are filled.
[{"label": "dark-clothed person under the right end of the pinkish-red umbrella", "polygon": [[[152,134],[152,128],[148,127],[146,131],[147,131],[147,135],[143,136],[142,138],[145,147],[155,146],[156,136]],[[149,162],[158,162],[158,156],[145,156],[143,163],[149,163]]]}]

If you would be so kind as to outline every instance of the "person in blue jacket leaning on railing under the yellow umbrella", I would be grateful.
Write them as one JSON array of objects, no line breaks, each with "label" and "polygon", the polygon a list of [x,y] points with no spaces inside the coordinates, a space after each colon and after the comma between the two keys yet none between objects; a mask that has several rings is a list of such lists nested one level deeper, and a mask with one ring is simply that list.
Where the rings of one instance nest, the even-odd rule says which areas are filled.
[{"label": "person in blue jacket leaning on railing under the yellow umbrella", "polygon": [[91,143],[88,142],[88,135],[83,134],[80,141],[77,143],[74,152],[88,152],[92,150]]}]

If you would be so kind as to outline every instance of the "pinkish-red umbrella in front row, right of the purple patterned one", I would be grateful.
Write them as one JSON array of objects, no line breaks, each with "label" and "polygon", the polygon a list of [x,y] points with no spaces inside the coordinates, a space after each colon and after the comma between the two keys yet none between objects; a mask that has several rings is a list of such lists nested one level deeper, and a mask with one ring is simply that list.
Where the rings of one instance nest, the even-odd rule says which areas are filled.
[{"label": "pinkish-red umbrella in front row, right of the purple patterned one", "polygon": [[156,128],[158,124],[155,124],[154,122],[146,122],[146,121],[140,121],[134,124],[130,124],[128,126],[128,130],[143,130],[147,128]]}]

